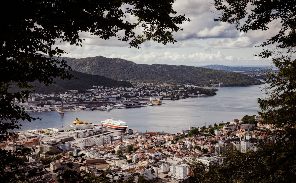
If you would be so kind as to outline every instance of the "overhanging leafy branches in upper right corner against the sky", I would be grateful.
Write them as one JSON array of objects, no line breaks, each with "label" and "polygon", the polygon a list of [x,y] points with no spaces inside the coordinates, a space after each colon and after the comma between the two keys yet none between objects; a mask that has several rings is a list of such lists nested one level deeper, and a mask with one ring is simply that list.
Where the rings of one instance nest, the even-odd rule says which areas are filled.
[{"label": "overhanging leafy branches in upper right corner against the sky", "polygon": [[[277,30],[276,35],[268,38],[261,46],[276,44],[277,48],[294,50],[296,45],[295,1],[215,0],[215,7],[221,12],[215,21],[235,24],[236,28],[243,32],[266,31],[269,25],[278,24],[281,28]],[[264,50],[259,56],[269,57],[273,53],[274,50]]]}]

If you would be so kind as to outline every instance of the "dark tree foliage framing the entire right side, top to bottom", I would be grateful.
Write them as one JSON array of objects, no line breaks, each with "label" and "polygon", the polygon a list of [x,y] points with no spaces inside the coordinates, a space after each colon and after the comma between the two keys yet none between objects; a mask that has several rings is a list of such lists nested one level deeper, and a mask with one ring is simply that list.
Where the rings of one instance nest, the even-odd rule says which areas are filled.
[{"label": "dark tree foliage framing the entire right side, top to bottom", "polygon": [[[296,80],[295,63],[295,1],[224,1],[215,0],[215,6],[222,11],[216,20],[234,23],[240,31],[267,30],[269,24],[281,25],[275,36],[261,46],[276,44],[279,48],[263,50],[259,54],[269,57],[274,54],[272,63],[278,69],[266,70],[263,88],[266,98],[259,98],[258,104],[263,122],[274,126],[272,130],[259,133],[275,137],[275,142],[260,141],[259,150],[246,153],[231,151],[219,166],[201,174],[200,182],[295,182],[296,158]],[[243,22],[244,21],[244,22]],[[283,54],[281,51],[286,51]],[[251,118],[245,116],[249,121]],[[215,176],[213,176],[215,175]]]}]

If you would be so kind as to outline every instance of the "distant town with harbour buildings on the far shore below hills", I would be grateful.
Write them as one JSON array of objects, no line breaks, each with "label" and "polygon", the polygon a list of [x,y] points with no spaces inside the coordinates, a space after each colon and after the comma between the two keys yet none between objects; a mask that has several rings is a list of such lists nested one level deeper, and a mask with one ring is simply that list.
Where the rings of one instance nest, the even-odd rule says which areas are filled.
[{"label": "distant town with harbour buildings on the far shore below hills", "polygon": [[80,111],[86,108],[91,110],[111,110],[129,107],[161,105],[163,100],[179,100],[188,97],[203,97],[216,95],[217,87],[223,83],[208,86],[187,85],[154,85],[138,83],[135,87],[104,87],[93,86],[84,93],[78,90],[69,90],[65,93],[31,93],[25,102],[15,100],[26,112],[41,112],[56,110]]}]

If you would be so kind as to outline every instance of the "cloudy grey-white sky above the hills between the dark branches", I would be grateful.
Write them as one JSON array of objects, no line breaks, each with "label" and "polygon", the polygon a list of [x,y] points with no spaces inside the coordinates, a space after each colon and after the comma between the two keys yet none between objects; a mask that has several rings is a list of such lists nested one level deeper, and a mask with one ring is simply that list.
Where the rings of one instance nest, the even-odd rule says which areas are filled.
[{"label": "cloudy grey-white sky above the hills between the dark branches", "polygon": [[[104,56],[123,58],[140,64],[169,64],[205,66],[221,64],[226,66],[269,66],[271,59],[255,57],[262,51],[259,46],[278,30],[278,24],[270,25],[268,31],[242,33],[234,25],[214,22],[218,13],[213,0],[176,0],[173,5],[179,15],[185,14],[190,22],[181,25],[183,31],[174,34],[175,44],[145,42],[141,48],[128,48],[128,43],[117,39],[101,40],[81,33],[86,39],[82,47],[59,45],[69,52],[66,57],[85,58]],[[266,47],[267,48],[267,47]]]}]

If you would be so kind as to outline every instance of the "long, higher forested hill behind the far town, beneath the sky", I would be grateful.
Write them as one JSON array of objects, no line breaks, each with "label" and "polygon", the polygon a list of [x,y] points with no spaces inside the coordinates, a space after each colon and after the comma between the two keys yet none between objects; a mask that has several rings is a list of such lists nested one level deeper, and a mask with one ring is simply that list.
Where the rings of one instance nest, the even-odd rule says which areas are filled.
[{"label": "long, higher forested hill behind the far town, beneath the sky", "polygon": [[102,56],[88,58],[63,58],[75,71],[96,74],[116,80],[139,82],[164,82],[171,84],[192,83],[211,85],[222,82],[224,86],[246,86],[262,84],[258,79],[234,72],[223,72],[194,66],[165,64],[136,64],[120,58]]}]

